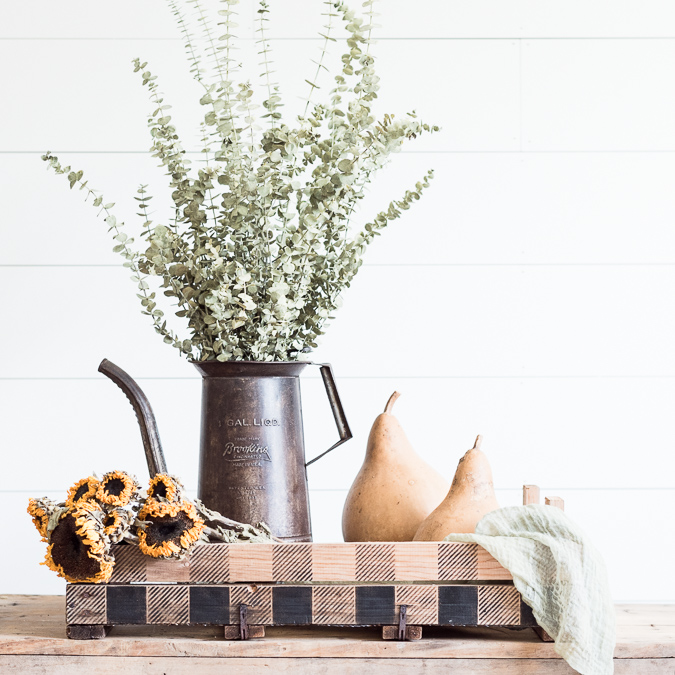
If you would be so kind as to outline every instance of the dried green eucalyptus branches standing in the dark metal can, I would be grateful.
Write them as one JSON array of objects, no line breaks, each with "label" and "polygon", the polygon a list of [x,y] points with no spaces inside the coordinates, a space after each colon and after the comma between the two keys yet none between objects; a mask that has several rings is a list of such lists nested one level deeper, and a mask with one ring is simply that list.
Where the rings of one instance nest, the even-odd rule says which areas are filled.
[{"label": "dried green eucalyptus branches standing in the dark metal can", "polygon": [[[170,178],[171,221],[153,223],[151,196],[141,185],[135,199],[145,250],[136,250],[112,213],[114,204],[89,187],[82,171],[62,166],[51,153],[43,159],[104,214],[115,239],[113,250],[125,258],[143,312],[166,343],[202,361],[294,360],[316,346],[368,244],[420,198],[433,172],[371,222],[355,228],[351,219],[364,188],[404,141],[438,127],[420,122],[414,113],[402,118],[387,114],[379,121],[371,113],[379,89],[370,53],[374,0],[363,3],[363,17],[342,2],[324,3],[317,74],[313,82],[307,80],[304,114],[290,126],[282,118],[279,86],[272,76],[267,2],[262,0],[258,10],[266,98],[263,114],[256,117],[251,85],[235,82],[238,0],[220,0],[222,30],[214,30],[201,0],[184,1],[194,9],[199,43],[178,0],[167,0],[191,73],[203,87],[202,168],[190,169],[156,76],[146,63],[134,60],[153,105],[148,117],[151,151]],[[324,61],[328,43],[336,41],[336,23],[346,29],[342,68],[328,101],[313,103],[318,75],[328,70]],[[167,327],[149,276],[159,277],[164,295],[177,303],[176,314],[187,319],[189,338],[181,339]]]}]

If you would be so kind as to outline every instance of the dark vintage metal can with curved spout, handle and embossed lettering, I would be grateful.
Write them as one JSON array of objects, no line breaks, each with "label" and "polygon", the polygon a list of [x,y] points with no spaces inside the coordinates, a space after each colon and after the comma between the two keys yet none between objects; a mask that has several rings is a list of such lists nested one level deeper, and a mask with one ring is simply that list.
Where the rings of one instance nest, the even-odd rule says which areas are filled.
[{"label": "dark vintage metal can with curved spout, handle and embossed lettering", "polygon": [[[224,516],[265,522],[282,541],[311,541],[306,467],[352,437],[329,364],[320,365],[340,439],[309,462],[300,400],[307,362],[204,361],[198,497]],[[318,365],[318,364],[317,364]],[[138,385],[104,359],[141,427],[150,474],[166,472],[152,408]]]}]

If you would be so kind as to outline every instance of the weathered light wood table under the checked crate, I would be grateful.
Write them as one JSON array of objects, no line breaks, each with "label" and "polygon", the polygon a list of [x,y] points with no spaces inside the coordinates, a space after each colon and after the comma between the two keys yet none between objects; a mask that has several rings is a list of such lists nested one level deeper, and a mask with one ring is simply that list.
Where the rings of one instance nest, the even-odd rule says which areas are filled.
[{"label": "weathered light wood table under the checked crate", "polygon": [[[617,607],[616,675],[675,675],[675,605]],[[381,630],[268,628],[226,641],[218,627],[118,626],[105,640],[66,638],[63,596],[0,596],[0,673],[114,675],[259,672],[294,675],[569,675],[532,629],[426,629],[418,642]]]}]

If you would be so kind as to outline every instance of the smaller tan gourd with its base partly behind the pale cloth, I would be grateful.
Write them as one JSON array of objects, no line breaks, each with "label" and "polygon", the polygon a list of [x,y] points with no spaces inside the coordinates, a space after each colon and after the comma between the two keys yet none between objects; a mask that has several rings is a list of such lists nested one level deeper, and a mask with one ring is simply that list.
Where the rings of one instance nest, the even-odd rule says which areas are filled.
[{"label": "smaller tan gourd with its base partly behind the pale cloth", "polygon": [[499,508],[481,441],[478,436],[473,448],[459,460],[450,492],[419,526],[415,541],[443,541],[452,533],[473,532],[486,513]]}]

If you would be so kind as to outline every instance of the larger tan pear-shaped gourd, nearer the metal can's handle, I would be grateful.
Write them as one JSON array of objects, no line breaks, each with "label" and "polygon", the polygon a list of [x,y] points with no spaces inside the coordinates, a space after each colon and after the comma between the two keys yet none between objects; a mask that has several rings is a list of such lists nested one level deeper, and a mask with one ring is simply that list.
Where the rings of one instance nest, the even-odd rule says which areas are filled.
[{"label": "larger tan pear-shaped gourd, nearer the metal can's handle", "polygon": [[410,445],[391,408],[373,423],[366,458],[342,512],[345,541],[410,541],[448,491],[448,482]]}]

